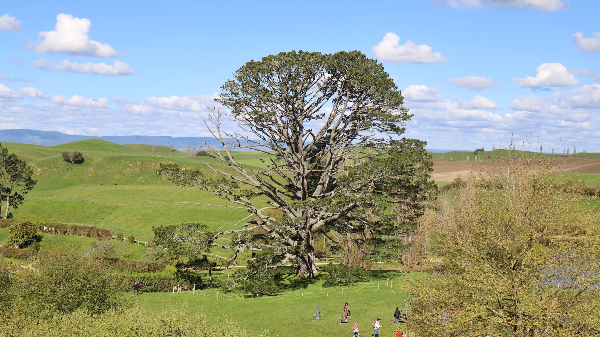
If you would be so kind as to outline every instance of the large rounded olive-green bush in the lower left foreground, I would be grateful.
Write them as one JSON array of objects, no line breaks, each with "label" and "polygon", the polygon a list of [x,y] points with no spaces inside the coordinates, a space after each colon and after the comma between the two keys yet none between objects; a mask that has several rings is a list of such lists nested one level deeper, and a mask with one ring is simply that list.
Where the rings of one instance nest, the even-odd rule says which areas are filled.
[{"label": "large rounded olive-green bush in the lower left foreground", "polygon": [[21,311],[103,312],[119,303],[115,278],[101,259],[42,251],[35,266],[37,272],[23,270],[14,278],[14,305]]}]

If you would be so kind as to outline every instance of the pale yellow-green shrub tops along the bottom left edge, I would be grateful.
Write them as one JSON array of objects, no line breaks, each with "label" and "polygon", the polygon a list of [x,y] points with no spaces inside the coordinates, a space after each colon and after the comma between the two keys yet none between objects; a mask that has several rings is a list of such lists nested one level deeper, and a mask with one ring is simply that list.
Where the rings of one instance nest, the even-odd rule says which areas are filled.
[{"label": "pale yellow-green shrub tops along the bottom left edge", "polygon": [[[99,315],[86,310],[55,314],[48,318],[25,315],[0,316],[2,337],[246,337],[244,329],[230,318],[209,324],[199,312],[190,314],[187,305],[164,305],[157,312],[141,306],[111,309]],[[262,336],[262,335],[261,335]]]}]

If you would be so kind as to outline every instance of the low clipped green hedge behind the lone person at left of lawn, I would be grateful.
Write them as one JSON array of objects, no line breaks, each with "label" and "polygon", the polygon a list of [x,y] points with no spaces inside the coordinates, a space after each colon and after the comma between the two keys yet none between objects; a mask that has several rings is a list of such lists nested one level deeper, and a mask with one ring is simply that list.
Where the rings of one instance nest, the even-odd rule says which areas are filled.
[{"label": "low clipped green hedge behind the lone person at left of lawn", "polygon": [[192,289],[196,284],[196,289],[202,285],[202,279],[199,275],[185,275],[184,273],[142,273],[139,275],[121,275],[119,276],[120,289],[122,291],[131,291],[133,283],[137,281],[140,289],[146,293],[163,293],[173,291],[173,285],[182,288]]}]

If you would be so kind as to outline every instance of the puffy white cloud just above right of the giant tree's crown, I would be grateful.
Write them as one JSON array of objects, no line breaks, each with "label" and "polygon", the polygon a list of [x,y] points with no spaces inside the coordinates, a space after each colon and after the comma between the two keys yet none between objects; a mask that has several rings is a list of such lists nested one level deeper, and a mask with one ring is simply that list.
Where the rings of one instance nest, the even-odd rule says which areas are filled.
[{"label": "puffy white cloud just above right of the giant tree's crown", "polygon": [[413,43],[407,40],[400,44],[400,37],[394,33],[385,34],[380,43],[373,46],[373,54],[379,61],[401,63],[436,63],[448,61],[442,53],[431,52],[427,44]]}]

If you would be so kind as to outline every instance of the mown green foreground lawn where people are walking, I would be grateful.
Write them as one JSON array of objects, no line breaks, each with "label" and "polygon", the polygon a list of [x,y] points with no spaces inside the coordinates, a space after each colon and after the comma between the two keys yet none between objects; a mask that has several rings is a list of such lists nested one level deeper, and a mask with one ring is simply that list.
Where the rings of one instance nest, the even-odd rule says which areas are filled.
[{"label": "mown green foreground lawn where people are walking", "polygon": [[[211,320],[228,315],[238,324],[248,329],[253,335],[259,335],[263,329],[268,329],[271,336],[352,336],[352,324],[358,321],[361,335],[373,335],[371,323],[381,318],[382,336],[395,335],[395,328],[400,327],[391,323],[394,310],[407,299],[406,294],[394,285],[385,285],[385,277],[392,278],[392,284],[403,280],[403,273],[385,271],[375,272],[381,286],[370,284],[372,288],[344,287],[344,291],[332,291],[327,294],[301,294],[288,297],[260,297],[253,299],[235,300],[235,294],[227,294],[233,300],[223,300],[216,297],[204,297],[202,292],[193,295],[191,292],[146,293],[139,296],[140,304],[152,310],[160,310],[163,301],[187,302],[191,312],[203,311],[211,315]],[[418,275],[418,273],[415,273]],[[322,282],[311,284],[309,290],[323,290]],[[217,291],[217,290],[212,290]],[[307,291],[308,293],[308,291]],[[349,302],[352,318],[348,324],[339,324],[339,317],[345,302]],[[319,322],[313,322],[316,305],[320,306],[323,317]],[[250,314],[251,313],[251,314]],[[393,332],[392,332],[393,331]]]}]

